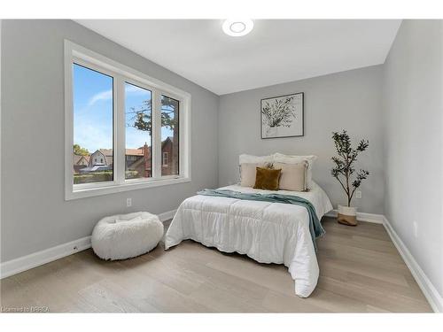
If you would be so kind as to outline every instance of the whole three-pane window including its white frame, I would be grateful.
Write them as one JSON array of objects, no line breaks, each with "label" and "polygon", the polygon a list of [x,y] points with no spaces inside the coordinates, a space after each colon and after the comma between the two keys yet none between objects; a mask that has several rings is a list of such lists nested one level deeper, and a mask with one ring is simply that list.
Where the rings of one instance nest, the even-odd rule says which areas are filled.
[{"label": "whole three-pane window including its white frame", "polygon": [[68,41],[65,80],[66,199],[190,181],[190,94]]}]

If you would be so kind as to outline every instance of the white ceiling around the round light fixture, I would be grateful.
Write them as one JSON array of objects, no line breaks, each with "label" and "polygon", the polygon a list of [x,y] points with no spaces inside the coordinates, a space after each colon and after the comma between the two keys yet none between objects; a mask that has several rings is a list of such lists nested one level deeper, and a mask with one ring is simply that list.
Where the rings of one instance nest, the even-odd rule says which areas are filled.
[{"label": "white ceiling around the round light fixture", "polygon": [[219,19],[79,19],[85,27],[224,95],[385,62],[399,19],[255,19],[231,37]]}]

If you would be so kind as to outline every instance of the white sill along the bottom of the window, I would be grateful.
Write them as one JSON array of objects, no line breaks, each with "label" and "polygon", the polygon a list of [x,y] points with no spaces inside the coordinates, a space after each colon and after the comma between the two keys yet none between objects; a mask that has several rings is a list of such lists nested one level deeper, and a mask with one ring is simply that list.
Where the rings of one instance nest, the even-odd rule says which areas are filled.
[{"label": "white sill along the bottom of the window", "polygon": [[73,200],[85,197],[96,197],[114,194],[123,191],[136,190],[136,189],[147,189],[159,186],[168,186],[171,184],[190,182],[190,177],[174,177],[174,178],[163,178],[155,180],[145,180],[145,181],[126,181],[122,184],[108,184],[97,187],[85,188],[85,189],[71,189],[66,191],[65,200]]}]

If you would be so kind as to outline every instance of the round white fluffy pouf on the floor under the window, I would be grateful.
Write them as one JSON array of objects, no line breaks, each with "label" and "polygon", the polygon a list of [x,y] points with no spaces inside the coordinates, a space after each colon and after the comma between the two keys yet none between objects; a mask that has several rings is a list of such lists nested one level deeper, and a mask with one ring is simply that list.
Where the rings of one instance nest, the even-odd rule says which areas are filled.
[{"label": "round white fluffy pouf on the floor under the window", "polygon": [[92,231],[92,249],[101,259],[130,259],[152,251],[163,232],[159,217],[149,212],[105,217]]}]

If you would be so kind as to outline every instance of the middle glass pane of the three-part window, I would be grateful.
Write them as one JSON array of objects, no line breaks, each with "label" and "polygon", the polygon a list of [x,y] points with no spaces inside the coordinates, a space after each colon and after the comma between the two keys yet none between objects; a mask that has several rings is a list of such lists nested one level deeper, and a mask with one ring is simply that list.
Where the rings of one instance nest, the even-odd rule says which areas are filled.
[{"label": "middle glass pane of the three-part window", "polygon": [[126,179],[152,176],[152,92],[125,83]]}]

